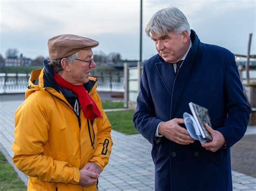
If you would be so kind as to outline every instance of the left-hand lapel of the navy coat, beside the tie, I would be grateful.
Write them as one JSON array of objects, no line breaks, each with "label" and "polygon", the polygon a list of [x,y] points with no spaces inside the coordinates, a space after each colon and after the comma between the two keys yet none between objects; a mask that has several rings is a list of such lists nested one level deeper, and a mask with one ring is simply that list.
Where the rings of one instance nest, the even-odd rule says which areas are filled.
[{"label": "left-hand lapel of the navy coat, beside the tie", "polygon": [[164,87],[167,89],[170,95],[172,95],[173,82],[175,79],[173,65],[167,62],[157,62],[156,68]]}]

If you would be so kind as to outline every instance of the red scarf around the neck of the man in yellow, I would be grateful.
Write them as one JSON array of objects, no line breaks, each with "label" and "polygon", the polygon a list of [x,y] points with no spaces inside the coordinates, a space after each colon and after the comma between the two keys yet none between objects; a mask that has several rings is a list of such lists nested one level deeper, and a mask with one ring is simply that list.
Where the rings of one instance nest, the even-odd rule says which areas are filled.
[{"label": "red scarf around the neck of the man in yellow", "polygon": [[91,121],[96,117],[102,117],[96,103],[92,100],[91,96],[87,93],[84,86],[75,86],[68,81],[64,80],[59,74],[53,72],[55,82],[63,88],[69,89],[78,97],[78,102],[81,105],[85,118]]}]

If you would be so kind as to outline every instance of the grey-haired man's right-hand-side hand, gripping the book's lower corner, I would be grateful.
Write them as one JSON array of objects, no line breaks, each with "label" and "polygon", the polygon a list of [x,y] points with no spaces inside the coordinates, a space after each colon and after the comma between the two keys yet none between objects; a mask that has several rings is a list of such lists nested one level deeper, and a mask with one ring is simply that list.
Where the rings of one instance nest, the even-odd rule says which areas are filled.
[{"label": "grey-haired man's right-hand-side hand, gripping the book's lower corner", "polygon": [[212,141],[203,143],[201,145],[208,151],[216,152],[225,144],[225,138],[221,132],[213,130],[209,125],[205,124],[205,127],[210,132]]}]

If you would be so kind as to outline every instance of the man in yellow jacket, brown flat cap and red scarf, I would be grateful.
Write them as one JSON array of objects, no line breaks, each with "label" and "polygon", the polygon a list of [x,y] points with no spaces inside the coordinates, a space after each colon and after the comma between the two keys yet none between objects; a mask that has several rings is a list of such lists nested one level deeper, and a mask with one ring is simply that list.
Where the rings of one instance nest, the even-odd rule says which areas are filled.
[{"label": "man in yellow jacket, brown flat cap and red scarf", "polygon": [[12,144],[14,164],[29,176],[28,190],[97,190],[113,143],[90,77],[96,46],[73,34],[53,37],[44,68],[31,73]]}]

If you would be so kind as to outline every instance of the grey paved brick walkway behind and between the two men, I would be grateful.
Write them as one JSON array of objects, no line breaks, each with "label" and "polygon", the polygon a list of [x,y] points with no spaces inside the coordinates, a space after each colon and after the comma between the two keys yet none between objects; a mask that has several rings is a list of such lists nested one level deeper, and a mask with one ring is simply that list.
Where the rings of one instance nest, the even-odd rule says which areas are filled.
[{"label": "grey paved brick walkway behind and between the two men", "polygon": [[[11,144],[14,140],[14,111],[22,101],[0,102],[0,150],[11,162]],[[256,134],[256,126],[246,134]],[[100,174],[99,190],[153,190],[154,166],[151,145],[140,135],[124,135],[112,131],[114,145],[110,162]],[[13,165],[13,164],[12,164]],[[16,169],[17,170],[17,169]],[[23,181],[27,178],[19,173]],[[233,190],[256,190],[256,178],[232,171]]]}]

